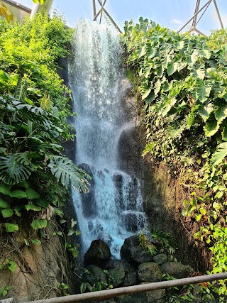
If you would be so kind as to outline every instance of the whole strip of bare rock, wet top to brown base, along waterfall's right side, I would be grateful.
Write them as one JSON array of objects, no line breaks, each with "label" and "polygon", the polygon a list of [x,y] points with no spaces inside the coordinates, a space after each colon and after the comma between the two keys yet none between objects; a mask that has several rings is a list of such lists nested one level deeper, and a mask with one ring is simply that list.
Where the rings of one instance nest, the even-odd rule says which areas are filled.
[{"label": "whole strip of bare rock, wet top to brown base, along waterfall's right side", "polygon": [[[164,163],[151,163],[149,156],[141,157],[144,148],[145,130],[140,125],[140,114],[136,114],[133,86],[124,80],[123,103],[126,108],[126,121],[133,121],[132,127],[121,133],[119,153],[120,167],[139,178],[144,200],[144,211],[148,217],[148,228],[170,232],[176,238],[176,256],[183,263],[196,270],[209,269],[210,255],[204,248],[196,247],[192,236],[198,224],[181,215],[184,199],[189,193],[182,186],[180,177],[173,178]],[[140,110],[139,110],[140,111]]]}]

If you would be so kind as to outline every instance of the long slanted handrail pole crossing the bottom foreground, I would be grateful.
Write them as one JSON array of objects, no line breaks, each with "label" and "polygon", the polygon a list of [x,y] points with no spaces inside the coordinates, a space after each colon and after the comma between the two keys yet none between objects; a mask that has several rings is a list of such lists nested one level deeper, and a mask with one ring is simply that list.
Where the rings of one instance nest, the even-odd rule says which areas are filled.
[{"label": "long slanted handrail pole crossing the bottom foreground", "polygon": [[211,282],[214,280],[227,279],[227,272],[222,272],[213,275],[201,275],[199,277],[186,277],[184,279],[154,282],[143,285],[135,285],[128,287],[115,288],[114,290],[101,290],[99,292],[87,292],[85,294],[73,294],[66,297],[57,297],[52,299],[43,299],[38,301],[31,301],[28,303],[74,303],[84,301],[101,301],[126,294],[136,294],[138,292],[149,292],[151,290],[161,290],[169,287],[183,286],[189,284],[196,284],[201,282]]}]

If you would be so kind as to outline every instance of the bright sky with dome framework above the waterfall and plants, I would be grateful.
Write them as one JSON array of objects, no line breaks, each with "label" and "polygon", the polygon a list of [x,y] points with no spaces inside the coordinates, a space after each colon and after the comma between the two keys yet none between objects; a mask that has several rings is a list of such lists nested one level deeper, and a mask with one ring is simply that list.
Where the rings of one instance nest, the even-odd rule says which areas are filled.
[{"label": "bright sky with dome framework above the waterfall and plants", "polygon": [[[33,7],[32,0],[19,4]],[[69,26],[76,26],[78,18],[94,19],[101,6],[123,31],[126,20],[136,23],[140,16],[175,31],[190,31],[209,35],[211,30],[227,27],[226,0],[54,0],[52,11],[62,13]],[[97,21],[106,22],[106,13],[99,13]]]}]

